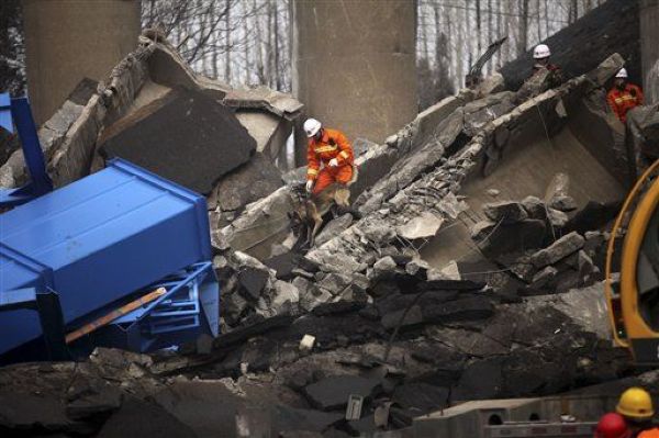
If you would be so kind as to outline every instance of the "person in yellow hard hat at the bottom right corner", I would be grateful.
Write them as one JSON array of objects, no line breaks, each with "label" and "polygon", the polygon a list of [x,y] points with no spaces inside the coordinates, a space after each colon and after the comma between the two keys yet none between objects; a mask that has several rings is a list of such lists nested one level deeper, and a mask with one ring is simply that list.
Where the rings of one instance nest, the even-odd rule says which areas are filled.
[{"label": "person in yellow hard hat at the bottom right corner", "polygon": [[659,427],[652,423],[652,397],[643,388],[629,388],[623,392],[615,411],[625,418],[629,437],[659,438]]}]

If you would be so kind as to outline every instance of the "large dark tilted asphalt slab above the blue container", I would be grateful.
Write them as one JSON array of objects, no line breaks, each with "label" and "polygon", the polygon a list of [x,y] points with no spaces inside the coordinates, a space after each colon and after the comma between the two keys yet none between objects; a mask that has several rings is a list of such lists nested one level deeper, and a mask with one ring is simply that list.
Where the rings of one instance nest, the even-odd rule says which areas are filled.
[{"label": "large dark tilted asphalt slab above the blue container", "polygon": [[99,144],[105,159],[127,159],[203,194],[256,150],[256,142],[230,110],[185,89],[118,121]]}]

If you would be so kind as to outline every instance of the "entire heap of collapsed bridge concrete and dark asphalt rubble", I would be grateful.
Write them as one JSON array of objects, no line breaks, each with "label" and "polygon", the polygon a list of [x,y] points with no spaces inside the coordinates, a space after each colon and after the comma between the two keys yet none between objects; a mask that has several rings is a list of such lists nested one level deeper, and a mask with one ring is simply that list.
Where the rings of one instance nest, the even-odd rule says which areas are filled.
[{"label": "entire heap of collapsed bridge concrete and dark asphalt rubble", "polygon": [[[197,77],[148,36],[109,83],[86,99],[74,93],[71,110],[40,134],[57,184],[101,157],[126,156],[208,194],[222,335],[177,352],[99,348],[80,363],[0,369],[0,398],[12,400],[0,402],[0,430],[359,436],[461,401],[563,393],[632,372],[626,351],[612,347],[601,282],[601,229],[625,176],[602,170],[615,142],[594,155],[574,125],[593,117],[611,128],[595,97],[619,55],[551,90],[540,78],[502,91],[498,75],[369,145],[353,188],[360,217],[328,220],[303,254],[289,217],[297,200],[272,164],[299,102]],[[177,120],[180,108],[223,123]],[[180,161],[168,155],[182,137],[139,143],[163,124],[200,137]],[[654,122],[638,126],[654,138]],[[566,146],[573,137],[581,143]],[[190,165],[224,146],[222,162]],[[548,154],[571,154],[578,169],[558,158],[520,165]],[[0,177],[24,178],[19,158]],[[354,396],[360,414],[346,419]]]}]

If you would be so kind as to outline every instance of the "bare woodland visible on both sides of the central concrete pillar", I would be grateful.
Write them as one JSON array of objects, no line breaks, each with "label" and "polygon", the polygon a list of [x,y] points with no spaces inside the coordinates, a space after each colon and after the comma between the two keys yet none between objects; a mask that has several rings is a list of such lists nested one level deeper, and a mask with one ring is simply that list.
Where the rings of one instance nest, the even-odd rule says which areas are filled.
[{"label": "bare woodland visible on both sides of the central concrete pillar", "polygon": [[[11,1],[18,0],[3,0]],[[214,78],[221,76],[232,85],[263,83],[290,90],[292,0],[142,1],[143,24],[158,25],[196,70]],[[483,41],[489,44],[509,36],[488,64],[487,72],[491,74],[536,40],[541,41],[601,2],[417,0],[418,59],[427,60],[424,68],[431,71],[428,77],[436,78],[442,68],[459,86],[474,53],[482,52]],[[442,45],[445,55],[438,49]]]}]

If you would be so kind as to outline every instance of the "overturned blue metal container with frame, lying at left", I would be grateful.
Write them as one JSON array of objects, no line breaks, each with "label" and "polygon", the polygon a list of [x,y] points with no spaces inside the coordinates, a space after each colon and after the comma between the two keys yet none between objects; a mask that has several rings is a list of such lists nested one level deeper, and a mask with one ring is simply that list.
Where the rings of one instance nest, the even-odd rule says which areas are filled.
[{"label": "overturned blue metal container with frame, lying at left", "polygon": [[[97,173],[0,214],[0,302],[11,291],[49,289],[59,296],[67,330],[115,308],[152,284],[186,269],[192,272],[191,266],[206,262],[204,296],[190,299],[206,303],[196,307],[197,328],[172,328],[171,333],[192,336],[201,330],[216,335],[219,288],[214,272],[208,268],[210,259],[205,200],[120,159]],[[170,307],[181,304],[176,311],[185,307],[185,300],[174,304],[171,300],[168,293],[157,305],[149,306],[149,312],[133,313],[139,315],[133,323],[145,318],[157,321],[158,312],[168,303]],[[214,312],[217,313],[213,315]],[[152,334],[157,335],[153,329]],[[40,318],[34,311],[0,313],[0,355],[41,335]],[[157,345],[180,340],[180,336],[159,336]],[[153,342],[137,344],[137,349],[145,350]]]}]

